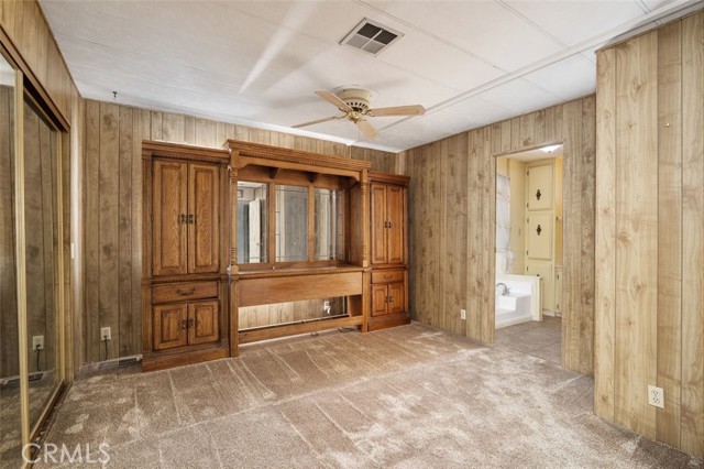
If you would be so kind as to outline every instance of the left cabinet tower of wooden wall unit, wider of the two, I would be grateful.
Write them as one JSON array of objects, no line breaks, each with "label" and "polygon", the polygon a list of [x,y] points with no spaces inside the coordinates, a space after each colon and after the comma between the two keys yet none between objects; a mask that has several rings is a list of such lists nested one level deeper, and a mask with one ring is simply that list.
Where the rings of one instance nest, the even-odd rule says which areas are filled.
[{"label": "left cabinet tower of wooden wall unit, wider of the two", "polygon": [[230,355],[229,154],[143,143],[143,369]]}]

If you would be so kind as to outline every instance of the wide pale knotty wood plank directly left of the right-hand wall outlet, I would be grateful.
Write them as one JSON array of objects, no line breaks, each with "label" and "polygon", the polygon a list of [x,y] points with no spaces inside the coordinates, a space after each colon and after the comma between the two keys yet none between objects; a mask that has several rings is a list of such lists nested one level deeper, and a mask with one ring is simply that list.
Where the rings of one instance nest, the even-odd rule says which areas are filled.
[{"label": "wide pale knotty wood plank directly left of the right-hand wall outlet", "polygon": [[616,47],[616,423],[654,437],[647,388],[657,379],[657,36]]}]

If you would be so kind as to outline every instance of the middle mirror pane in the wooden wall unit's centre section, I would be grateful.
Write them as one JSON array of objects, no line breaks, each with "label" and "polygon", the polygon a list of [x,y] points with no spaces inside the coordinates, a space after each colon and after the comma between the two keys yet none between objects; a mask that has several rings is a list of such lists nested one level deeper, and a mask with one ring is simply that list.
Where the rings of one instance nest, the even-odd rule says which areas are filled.
[{"label": "middle mirror pane in the wooden wall unit's centre section", "polygon": [[276,185],[276,262],[308,260],[308,187]]}]

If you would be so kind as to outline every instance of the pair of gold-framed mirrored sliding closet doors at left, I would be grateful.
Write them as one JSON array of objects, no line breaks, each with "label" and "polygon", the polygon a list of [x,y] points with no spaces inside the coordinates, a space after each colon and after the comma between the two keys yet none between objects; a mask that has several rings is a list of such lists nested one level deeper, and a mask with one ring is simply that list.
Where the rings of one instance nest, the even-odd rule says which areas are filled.
[{"label": "pair of gold-framed mirrored sliding closet doors at left", "polygon": [[33,458],[65,382],[65,135],[0,54],[0,469]]}]

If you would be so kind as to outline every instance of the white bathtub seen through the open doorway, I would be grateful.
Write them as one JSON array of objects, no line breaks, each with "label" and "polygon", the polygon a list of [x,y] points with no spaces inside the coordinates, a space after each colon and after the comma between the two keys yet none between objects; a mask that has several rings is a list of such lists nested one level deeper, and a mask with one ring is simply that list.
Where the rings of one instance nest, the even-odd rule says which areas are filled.
[{"label": "white bathtub seen through the open doorway", "polygon": [[535,275],[496,274],[496,283],[508,287],[508,295],[496,288],[496,328],[542,320],[540,277]]}]

